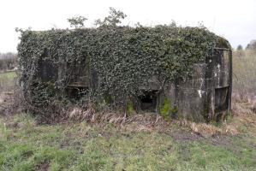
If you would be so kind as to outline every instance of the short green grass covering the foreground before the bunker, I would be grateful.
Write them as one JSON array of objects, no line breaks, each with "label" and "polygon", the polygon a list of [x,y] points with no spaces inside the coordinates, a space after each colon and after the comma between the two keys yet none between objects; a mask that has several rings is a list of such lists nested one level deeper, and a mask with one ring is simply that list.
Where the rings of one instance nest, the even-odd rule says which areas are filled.
[{"label": "short green grass covering the foreground before the bunker", "polygon": [[172,131],[37,125],[29,115],[2,116],[0,170],[256,170],[256,139],[249,132],[214,144],[176,139]]}]

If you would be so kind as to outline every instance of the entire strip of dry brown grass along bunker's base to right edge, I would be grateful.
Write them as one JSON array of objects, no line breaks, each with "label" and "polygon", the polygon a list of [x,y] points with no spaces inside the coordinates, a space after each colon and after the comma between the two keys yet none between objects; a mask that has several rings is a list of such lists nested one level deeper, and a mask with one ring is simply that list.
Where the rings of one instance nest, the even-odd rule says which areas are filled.
[{"label": "entire strip of dry brown grass along bunker's base to right edge", "polygon": [[[247,100],[247,102],[249,102]],[[252,101],[250,101],[252,102]],[[165,121],[161,115],[152,113],[126,115],[125,113],[96,113],[91,105],[88,109],[83,110],[75,107],[70,110],[69,120],[71,121],[87,121],[90,123],[98,123],[99,125],[113,124],[116,127],[128,131],[146,131],[152,130],[167,131],[171,127],[181,127],[188,129],[191,133],[198,134],[202,137],[209,138],[216,135],[236,135],[239,134],[239,127],[247,124],[254,124],[256,127],[255,103],[238,103],[236,100],[232,104],[231,116],[229,121],[223,123],[195,123],[188,120]]]}]

